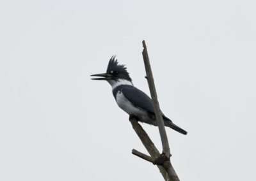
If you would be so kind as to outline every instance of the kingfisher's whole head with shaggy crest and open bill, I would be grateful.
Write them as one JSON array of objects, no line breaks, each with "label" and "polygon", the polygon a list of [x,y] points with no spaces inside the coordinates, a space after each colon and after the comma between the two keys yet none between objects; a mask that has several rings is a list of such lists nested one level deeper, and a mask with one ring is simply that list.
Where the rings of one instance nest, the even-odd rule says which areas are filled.
[{"label": "kingfisher's whole head with shaggy crest and open bill", "polygon": [[100,78],[92,78],[92,80],[107,80],[112,86],[116,85],[118,82],[131,82],[132,84],[132,79],[129,76],[127,68],[124,65],[119,64],[117,59],[115,59],[115,56],[112,56],[109,60],[106,73],[99,73],[91,76],[100,76]]}]

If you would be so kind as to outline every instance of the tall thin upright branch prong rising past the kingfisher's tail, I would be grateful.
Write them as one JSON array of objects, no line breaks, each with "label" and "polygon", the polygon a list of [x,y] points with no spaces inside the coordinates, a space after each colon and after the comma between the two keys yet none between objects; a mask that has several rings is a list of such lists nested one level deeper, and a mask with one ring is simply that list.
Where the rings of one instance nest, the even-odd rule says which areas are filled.
[{"label": "tall thin upright branch prong rising past the kingfisher's tail", "polygon": [[155,111],[155,115],[156,115],[156,119],[157,119],[159,133],[161,136],[163,152],[166,155],[166,157],[170,157],[170,147],[169,147],[166,131],[164,128],[163,116],[162,116],[160,106],[159,106],[159,103],[157,100],[156,87],[155,87],[154,78],[153,78],[153,74],[152,74],[152,70],[151,70],[151,66],[150,66],[150,62],[149,62],[149,58],[148,58],[147,46],[146,46],[146,43],[144,40],[142,41],[142,44],[144,47],[142,55],[143,55],[143,60],[144,60],[144,64],[145,64],[145,69],[146,69],[148,87],[150,89],[151,98],[154,103],[154,111]]}]

